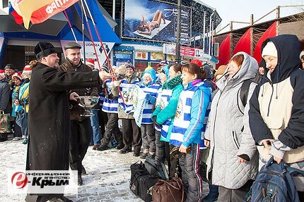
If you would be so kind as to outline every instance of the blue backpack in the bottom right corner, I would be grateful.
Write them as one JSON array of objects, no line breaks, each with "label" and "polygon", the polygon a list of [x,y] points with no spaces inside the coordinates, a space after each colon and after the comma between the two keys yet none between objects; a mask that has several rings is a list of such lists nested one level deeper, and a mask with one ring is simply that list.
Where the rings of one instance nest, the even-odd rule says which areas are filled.
[{"label": "blue backpack in the bottom right corner", "polygon": [[291,175],[302,170],[290,168],[284,163],[277,164],[271,157],[262,167],[250,191],[245,196],[247,202],[298,202],[298,192]]}]

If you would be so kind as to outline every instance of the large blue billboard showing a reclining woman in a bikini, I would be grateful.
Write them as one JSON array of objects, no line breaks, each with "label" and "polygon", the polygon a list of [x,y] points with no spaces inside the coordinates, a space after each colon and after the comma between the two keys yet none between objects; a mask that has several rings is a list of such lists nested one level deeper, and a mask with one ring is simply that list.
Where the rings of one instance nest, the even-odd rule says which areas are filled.
[{"label": "large blue billboard showing a reclining woman in a bikini", "polygon": [[[122,37],[176,42],[177,5],[150,0],[125,0]],[[180,43],[189,44],[191,8],[181,9]]]}]

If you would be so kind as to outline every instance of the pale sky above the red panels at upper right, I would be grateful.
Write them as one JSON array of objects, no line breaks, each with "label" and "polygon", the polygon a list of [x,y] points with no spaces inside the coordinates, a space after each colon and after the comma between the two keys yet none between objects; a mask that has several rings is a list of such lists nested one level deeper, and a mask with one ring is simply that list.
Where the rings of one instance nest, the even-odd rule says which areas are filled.
[{"label": "pale sky above the red panels at upper right", "polygon": [[[250,22],[250,14],[254,15],[254,20],[261,18],[276,6],[303,5],[304,0],[201,0],[204,4],[216,8],[221,16],[222,23],[220,27],[224,27],[230,21]],[[281,17],[300,13],[304,11],[304,7],[298,8],[281,8]],[[268,18],[259,21],[271,20],[276,17],[276,13],[269,14]],[[233,24],[233,28],[244,27],[246,25]],[[218,28],[220,28],[218,27]],[[217,29],[218,30],[218,29]],[[225,29],[226,30],[226,29]],[[228,31],[228,30],[227,30]]]}]

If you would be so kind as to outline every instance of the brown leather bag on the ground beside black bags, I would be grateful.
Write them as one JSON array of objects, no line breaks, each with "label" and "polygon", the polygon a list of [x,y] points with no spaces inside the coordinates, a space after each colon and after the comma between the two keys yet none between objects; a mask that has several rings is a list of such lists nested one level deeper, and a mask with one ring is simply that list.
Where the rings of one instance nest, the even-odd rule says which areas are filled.
[{"label": "brown leather bag on the ground beside black bags", "polygon": [[152,200],[154,202],[183,202],[186,197],[180,177],[173,177],[173,179],[167,181],[159,179],[152,189]]}]

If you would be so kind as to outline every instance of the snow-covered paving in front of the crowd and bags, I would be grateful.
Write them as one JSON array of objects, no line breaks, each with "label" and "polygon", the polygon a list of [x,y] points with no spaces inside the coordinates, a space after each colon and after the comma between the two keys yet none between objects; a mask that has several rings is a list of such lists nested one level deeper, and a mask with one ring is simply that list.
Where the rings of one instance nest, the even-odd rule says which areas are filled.
[{"label": "snow-covered paving in front of the crowd and bags", "polygon": [[[7,194],[7,170],[24,170],[26,145],[21,141],[0,143],[0,201],[25,201],[25,195]],[[130,165],[140,160],[133,153],[120,154],[117,149],[93,151],[92,146],[83,160],[88,175],[83,176],[83,186],[77,195],[67,195],[73,201],[129,201],[140,202],[129,189]]]}]

